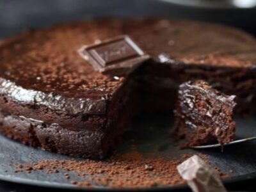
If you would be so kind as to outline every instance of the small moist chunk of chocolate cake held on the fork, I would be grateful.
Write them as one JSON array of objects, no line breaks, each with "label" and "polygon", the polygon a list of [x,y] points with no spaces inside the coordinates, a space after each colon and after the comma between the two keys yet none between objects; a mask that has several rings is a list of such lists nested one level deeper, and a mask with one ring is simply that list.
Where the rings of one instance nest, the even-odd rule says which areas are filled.
[{"label": "small moist chunk of chocolate cake held on the fork", "polygon": [[180,84],[175,109],[174,133],[184,136],[188,147],[234,140],[236,96],[218,92],[205,81]]}]

